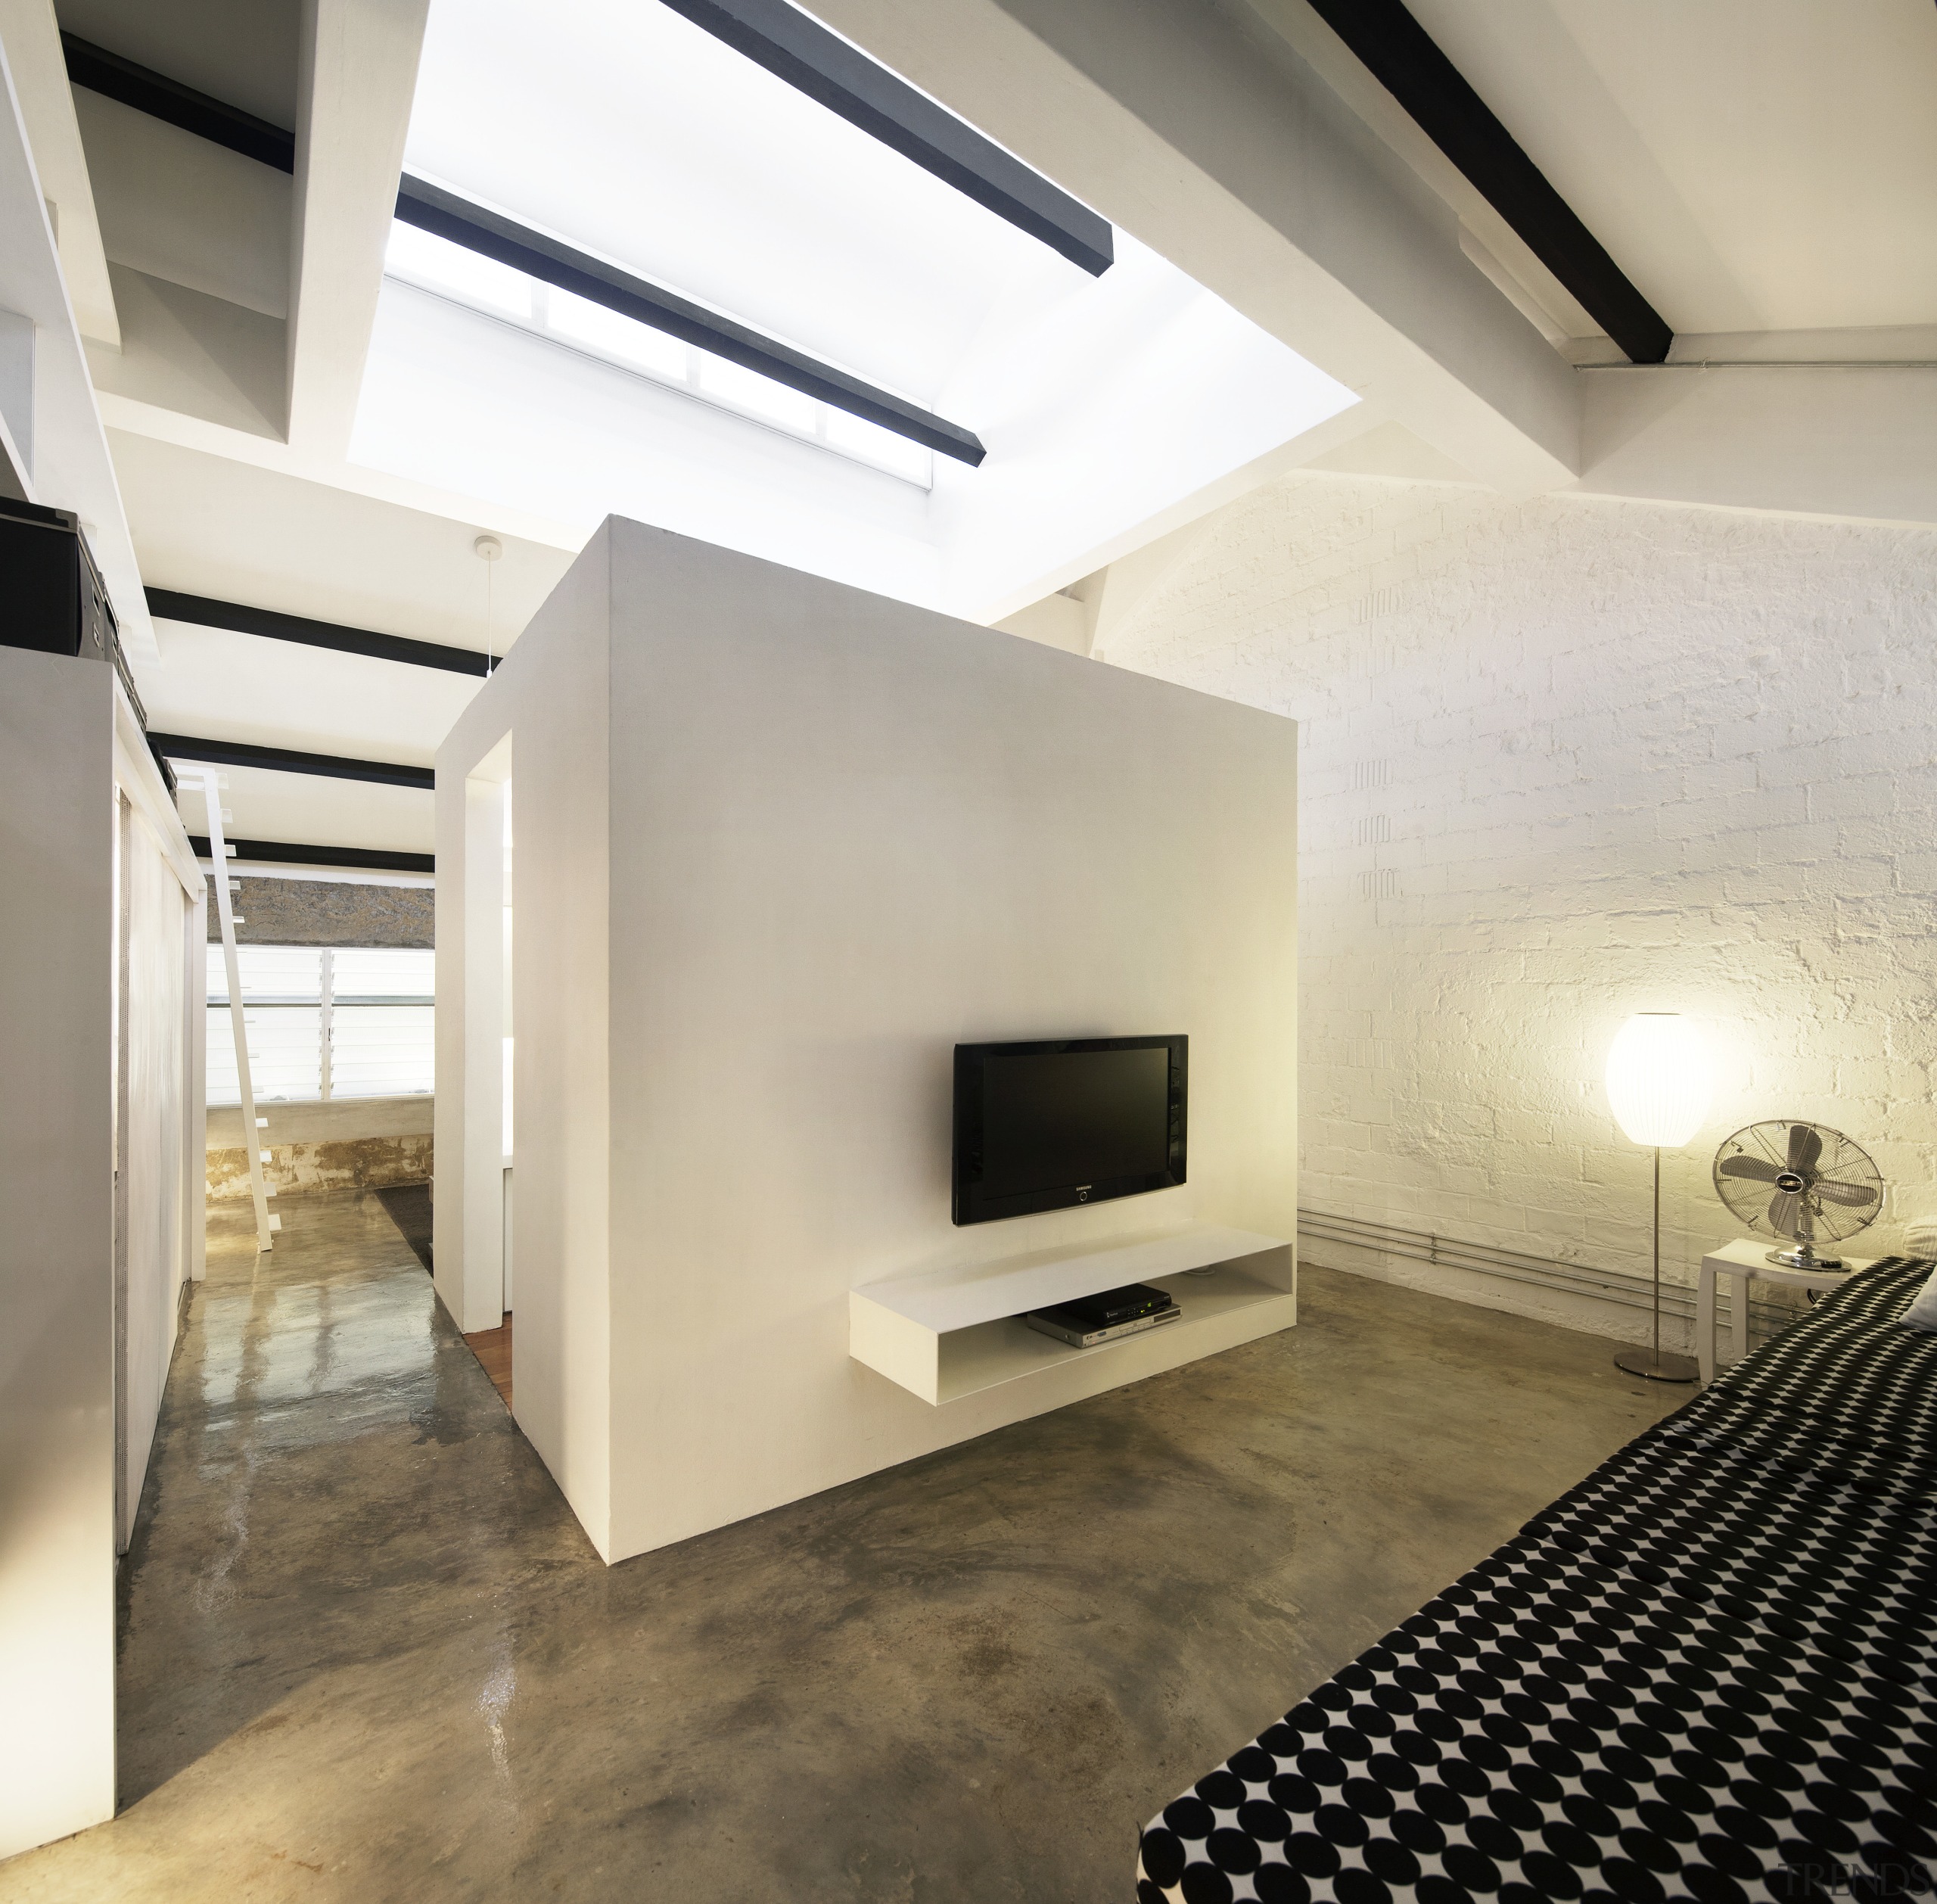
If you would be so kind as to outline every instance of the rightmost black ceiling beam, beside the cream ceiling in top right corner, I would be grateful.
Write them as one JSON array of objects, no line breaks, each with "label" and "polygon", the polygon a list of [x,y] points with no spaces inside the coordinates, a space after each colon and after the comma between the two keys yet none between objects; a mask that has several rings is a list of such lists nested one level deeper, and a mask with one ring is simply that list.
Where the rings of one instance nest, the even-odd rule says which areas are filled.
[{"label": "rightmost black ceiling beam, beside the cream ceiling in top right corner", "polygon": [[1311,0],[1311,8],[1633,362],[1668,358],[1676,333],[1666,320],[1402,0]]}]

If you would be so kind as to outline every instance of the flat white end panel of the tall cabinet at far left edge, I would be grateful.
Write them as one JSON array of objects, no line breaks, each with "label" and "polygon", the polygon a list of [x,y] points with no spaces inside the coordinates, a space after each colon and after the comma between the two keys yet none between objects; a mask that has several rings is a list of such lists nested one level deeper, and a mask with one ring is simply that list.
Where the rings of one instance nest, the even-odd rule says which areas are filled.
[{"label": "flat white end panel of the tall cabinet at far left edge", "polygon": [[114,1811],[112,690],[0,647],[0,1858]]}]

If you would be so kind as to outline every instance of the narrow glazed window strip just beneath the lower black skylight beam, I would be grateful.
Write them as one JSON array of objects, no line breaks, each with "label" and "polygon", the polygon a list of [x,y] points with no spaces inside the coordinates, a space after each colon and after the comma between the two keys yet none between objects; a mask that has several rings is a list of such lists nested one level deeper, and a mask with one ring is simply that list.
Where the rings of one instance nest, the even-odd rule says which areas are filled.
[{"label": "narrow glazed window strip just beneath the lower black skylight beam", "polygon": [[910,444],[866,418],[848,416],[815,397],[775,384],[757,370],[728,364],[711,351],[655,331],[571,291],[544,285],[511,265],[480,258],[415,225],[401,221],[391,225],[384,275],[515,323],[566,349],[649,376],[701,403],[715,403],[769,428],[819,444],[905,482],[916,482],[924,490],[934,486],[934,451],[922,444]]}]

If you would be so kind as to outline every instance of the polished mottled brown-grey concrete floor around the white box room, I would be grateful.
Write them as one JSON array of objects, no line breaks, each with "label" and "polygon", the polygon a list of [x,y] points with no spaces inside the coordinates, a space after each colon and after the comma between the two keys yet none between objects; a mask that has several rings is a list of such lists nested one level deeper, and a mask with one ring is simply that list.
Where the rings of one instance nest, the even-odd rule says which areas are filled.
[{"label": "polished mottled brown-grey concrete floor around the white box room", "polygon": [[1681,1398],[1307,1271],[1276,1338],[606,1569],[376,1195],[281,1209],[176,1352],[122,1813],[0,1898],[1127,1904],[1143,1819]]}]

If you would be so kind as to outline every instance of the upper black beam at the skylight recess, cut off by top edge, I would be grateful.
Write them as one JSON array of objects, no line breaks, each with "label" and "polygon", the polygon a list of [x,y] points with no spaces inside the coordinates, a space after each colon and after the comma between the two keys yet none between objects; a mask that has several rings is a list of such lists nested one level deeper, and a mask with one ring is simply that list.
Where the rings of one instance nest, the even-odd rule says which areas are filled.
[{"label": "upper black beam at the skylight recess, cut off by top edge", "polygon": [[1102,277],[1114,263],[1108,219],[788,0],[664,4],[1092,277]]}]

